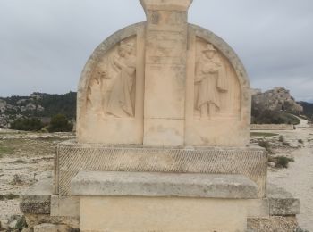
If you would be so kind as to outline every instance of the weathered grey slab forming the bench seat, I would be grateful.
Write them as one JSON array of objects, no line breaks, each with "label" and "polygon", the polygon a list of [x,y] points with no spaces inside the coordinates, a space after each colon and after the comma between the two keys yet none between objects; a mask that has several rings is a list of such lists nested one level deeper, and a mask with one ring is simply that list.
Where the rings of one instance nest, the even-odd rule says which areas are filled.
[{"label": "weathered grey slab forming the bench seat", "polygon": [[72,179],[71,195],[254,199],[258,189],[242,175],[81,171]]}]

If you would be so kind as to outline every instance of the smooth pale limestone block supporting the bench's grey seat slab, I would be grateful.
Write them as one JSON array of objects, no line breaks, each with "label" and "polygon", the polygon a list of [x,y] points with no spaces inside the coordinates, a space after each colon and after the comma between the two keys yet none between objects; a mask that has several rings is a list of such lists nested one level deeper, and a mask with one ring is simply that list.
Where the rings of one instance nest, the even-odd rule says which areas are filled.
[{"label": "smooth pale limestone block supporting the bench's grey seat slab", "polygon": [[84,196],[80,207],[81,231],[245,232],[247,228],[242,200]]}]

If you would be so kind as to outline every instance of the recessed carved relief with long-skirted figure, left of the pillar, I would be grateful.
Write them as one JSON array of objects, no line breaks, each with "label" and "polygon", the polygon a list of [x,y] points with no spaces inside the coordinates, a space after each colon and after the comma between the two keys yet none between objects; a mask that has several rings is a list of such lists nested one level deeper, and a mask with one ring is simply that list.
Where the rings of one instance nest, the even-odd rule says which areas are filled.
[{"label": "recessed carved relief with long-skirted figure, left of the pillar", "polygon": [[126,39],[98,63],[89,80],[88,109],[101,117],[135,115],[136,46]]}]

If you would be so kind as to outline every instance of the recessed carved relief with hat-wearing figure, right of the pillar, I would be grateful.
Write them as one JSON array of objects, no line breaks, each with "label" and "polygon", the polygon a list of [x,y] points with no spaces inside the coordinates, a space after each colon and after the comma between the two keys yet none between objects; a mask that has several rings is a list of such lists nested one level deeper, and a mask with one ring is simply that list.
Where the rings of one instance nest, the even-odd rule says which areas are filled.
[{"label": "recessed carved relief with hat-wearing figure, right of the pillar", "polygon": [[232,66],[212,44],[200,38],[196,41],[195,118],[239,117],[241,89]]}]

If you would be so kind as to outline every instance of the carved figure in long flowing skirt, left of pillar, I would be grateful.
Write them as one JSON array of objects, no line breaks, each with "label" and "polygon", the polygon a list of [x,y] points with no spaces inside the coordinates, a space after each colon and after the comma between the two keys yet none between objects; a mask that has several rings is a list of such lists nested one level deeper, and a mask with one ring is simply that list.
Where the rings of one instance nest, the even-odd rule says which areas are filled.
[{"label": "carved figure in long flowing skirt, left of pillar", "polygon": [[136,78],[136,56],[133,44],[121,42],[117,55],[109,59],[102,78],[105,115],[118,118],[133,117],[132,95]]}]

